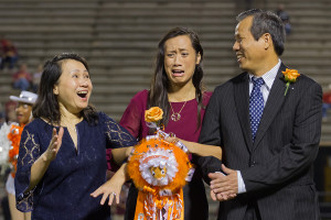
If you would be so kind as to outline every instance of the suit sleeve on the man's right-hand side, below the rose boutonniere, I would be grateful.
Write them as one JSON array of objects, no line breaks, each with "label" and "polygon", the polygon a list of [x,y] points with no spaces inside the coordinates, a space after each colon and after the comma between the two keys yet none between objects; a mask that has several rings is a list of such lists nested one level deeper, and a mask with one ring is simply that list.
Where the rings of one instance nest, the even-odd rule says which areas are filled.
[{"label": "suit sleeve on the man's right-hand side, below the rose boutonniere", "polygon": [[300,177],[317,157],[321,135],[322,89],[313,82],[298,98],[300,101],[296,107],[291,141],[267,163],[241,170],[247,191],[279,186]]}]

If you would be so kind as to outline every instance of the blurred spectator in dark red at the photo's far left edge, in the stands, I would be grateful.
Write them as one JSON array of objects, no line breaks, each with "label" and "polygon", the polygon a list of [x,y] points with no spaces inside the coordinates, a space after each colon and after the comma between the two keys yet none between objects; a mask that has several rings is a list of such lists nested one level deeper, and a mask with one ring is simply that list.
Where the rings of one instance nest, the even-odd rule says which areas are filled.
[{"label": "blurred spectator in dark red at the photo's far left edge, in the stands", "polygon": [[4,65],[8,63],[9,69],[12,69],[19,58],[18,55],[18,50],[17,47],[12,44],[11,41],[1,37],[1,65],[0,69],[4,68]]}]

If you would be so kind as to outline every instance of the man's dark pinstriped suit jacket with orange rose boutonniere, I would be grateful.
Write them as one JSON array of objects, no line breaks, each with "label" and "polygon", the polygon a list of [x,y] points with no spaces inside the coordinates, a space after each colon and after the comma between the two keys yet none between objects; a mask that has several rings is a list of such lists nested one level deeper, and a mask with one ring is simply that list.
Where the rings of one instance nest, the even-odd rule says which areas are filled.
[{"label": "man's dark pinstriped suit jacket with orange rose boutonniere", "polygon": [[[225,166],[242,172],[247,193],[220,202],[218,219],[243,219],[256,201],[261,219],[319,219],[312,164],[321,134],[321,87],[305,75],[290,84],[281,64],[266,102],[256,140],[252,142],[247,73],[218,86],[207,106],[200,142],[223,148]],[[221,162],[199,161],[204,176]]]}]

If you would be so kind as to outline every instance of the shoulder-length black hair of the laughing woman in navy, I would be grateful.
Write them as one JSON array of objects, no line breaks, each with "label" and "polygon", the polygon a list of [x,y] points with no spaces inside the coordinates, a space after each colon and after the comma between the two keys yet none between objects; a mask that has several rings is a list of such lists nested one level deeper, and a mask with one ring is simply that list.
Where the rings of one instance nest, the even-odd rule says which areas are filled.
[{"label": "shoulder-length black hair of the laughing woman in navy", "polygon": [[[74,59],[82,63],[88,72],[88,65],[86,61],[74,53],[64,53],[55,56],[51,61],[46,61],[40,80],[38,99],[32,109],[34,118],[43,118],[51,124],[60,124],[60,106],[57,98],[53,92],[53,88],[58,84],[58,79],[63,70],[62,64],[67,59]],[[90,105],[83,109],[81,114],[88,121],[89,124],[97,123],[98,121],[96,109]]]}]

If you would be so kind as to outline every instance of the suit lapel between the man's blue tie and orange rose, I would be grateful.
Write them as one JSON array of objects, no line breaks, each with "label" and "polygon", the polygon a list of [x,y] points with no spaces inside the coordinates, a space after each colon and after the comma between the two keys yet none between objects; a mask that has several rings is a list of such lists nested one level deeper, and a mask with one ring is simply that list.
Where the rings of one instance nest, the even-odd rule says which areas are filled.
[{"label": "suit lapel between the man's blue tie and orange rose", "polygon": [[280,65],[280,68],[277,73],[277,76],[275,78],[275,81],[273,84],[266,107],[264,109],[263,117],[260,119],[258,130],[256,133],[256,139],[253,145],[253,151],[258,145],[263,136],[265,135],[266,131],[270,127],[274,118],[276,117],[276,113],[279,111],[280,107],[282,106],[282,102],[285,101],[285,81],[282,77],[282,73],[285,72],[286,66],[284,64]]}]

